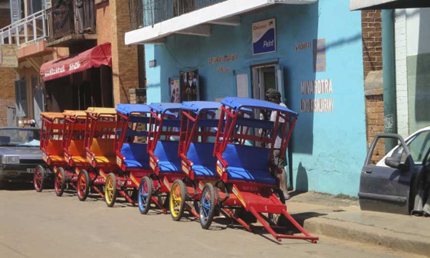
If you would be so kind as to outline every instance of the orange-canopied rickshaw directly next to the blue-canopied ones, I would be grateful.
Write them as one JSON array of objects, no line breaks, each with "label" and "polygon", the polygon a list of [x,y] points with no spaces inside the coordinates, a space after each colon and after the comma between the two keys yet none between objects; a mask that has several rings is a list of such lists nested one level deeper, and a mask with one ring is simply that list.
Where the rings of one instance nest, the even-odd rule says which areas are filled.
[{"label": "orange-canopied rickshaw directly next to the blue-canopied ones", "polygon": [[[103,187],[111,172],[118,172],[114,142],[116,111],[114,108],[89,107],[86,109],[85,157],[88,170],[82,169],[78,174],[78,198],[85,201],[90,187],[105,198]],[[106,191],[106,189],[105,189]],[[109,192],[109,191],[107,191]]]}]

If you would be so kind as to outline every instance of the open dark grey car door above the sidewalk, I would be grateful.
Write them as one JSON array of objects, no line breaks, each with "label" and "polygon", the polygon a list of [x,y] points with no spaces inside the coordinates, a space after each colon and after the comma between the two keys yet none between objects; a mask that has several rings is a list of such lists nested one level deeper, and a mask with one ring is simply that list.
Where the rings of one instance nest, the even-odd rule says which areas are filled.
[{"label": "open dark grey car door above the sidewalk", "polygon": [[[391,161],[398,160],[398,166],[372,164],[371,157],[378,142],[389,138],[398,141],[403,148],[402,157],[390,157]],[[378,134],[370,146],[360,175],[358,197],[361,210],[409,214],[413,174],[414,162],[403,138],[398,134]]]}]

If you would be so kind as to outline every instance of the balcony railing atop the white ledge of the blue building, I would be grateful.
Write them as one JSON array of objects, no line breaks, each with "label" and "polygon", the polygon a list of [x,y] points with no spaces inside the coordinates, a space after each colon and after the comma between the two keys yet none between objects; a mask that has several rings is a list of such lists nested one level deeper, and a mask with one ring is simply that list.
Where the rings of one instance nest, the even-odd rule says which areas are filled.
[{"label": "balcony railing atop the white ledge of the blue building", "polygon": [[152,26],[223,1],[226,0],[129,0],[131,30]]}]

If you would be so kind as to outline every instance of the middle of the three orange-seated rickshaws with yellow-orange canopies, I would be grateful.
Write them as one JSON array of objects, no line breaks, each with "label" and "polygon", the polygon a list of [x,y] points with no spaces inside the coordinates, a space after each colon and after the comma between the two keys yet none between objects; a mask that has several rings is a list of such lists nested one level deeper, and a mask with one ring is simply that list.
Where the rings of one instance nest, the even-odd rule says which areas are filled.
[{"label": "middle of the three orange-seated rickshaws with yellow-orange canopies", "polygon": [[86,113],[82,110],[65,110],[63,116],[63,154],[67,166],[59,174],[61,180],[60,176],[55,177],[55,190],[59,196],[67,185],[77,190],[79,172],[88,169],[84,148]]}]

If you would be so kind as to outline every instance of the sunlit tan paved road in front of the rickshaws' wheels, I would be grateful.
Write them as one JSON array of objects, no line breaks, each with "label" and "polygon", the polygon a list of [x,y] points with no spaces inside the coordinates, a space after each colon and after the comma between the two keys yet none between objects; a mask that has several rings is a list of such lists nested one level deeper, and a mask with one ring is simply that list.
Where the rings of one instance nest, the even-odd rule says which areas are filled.
[{"label": "sunlit tan paved road in front of the rickshaws' wheels", "polygon": [[[272,241],[215,223],[203,230],[192,220],[140,215],[126,203],[108,208],[96,196],[80,202],[53,190],[0,190],[1,258],[141,257],[403,257],[378,247],[320,236],[318,244]],[[408,255],[408,257],[411,257]],[[413,257],[413,256],[412,256]],[[415,256],[416,257],[416,256]]]}]

